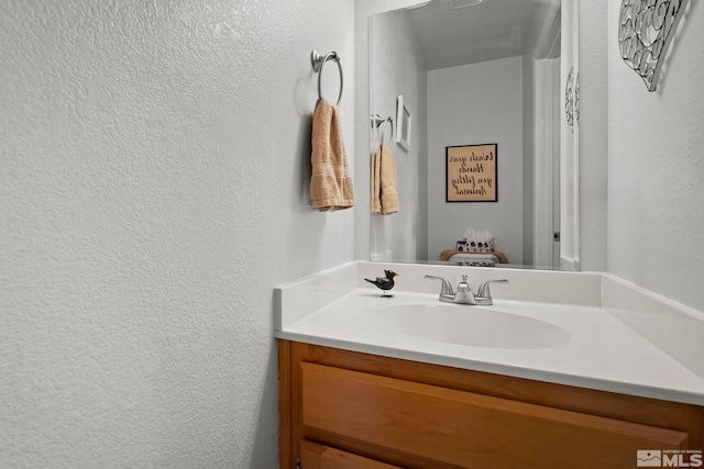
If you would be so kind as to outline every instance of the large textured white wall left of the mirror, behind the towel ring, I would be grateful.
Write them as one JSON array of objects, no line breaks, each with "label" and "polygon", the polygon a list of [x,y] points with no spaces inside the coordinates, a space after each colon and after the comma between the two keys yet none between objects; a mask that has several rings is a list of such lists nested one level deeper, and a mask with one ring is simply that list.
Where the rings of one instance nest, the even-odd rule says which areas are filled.
[{"label": "large textured white wall left of the mirror, behind the towel ring", "polygon": [[277,467],[273,287],[353,258],[307,208],[353,8],[0,3],[0,466]]}]

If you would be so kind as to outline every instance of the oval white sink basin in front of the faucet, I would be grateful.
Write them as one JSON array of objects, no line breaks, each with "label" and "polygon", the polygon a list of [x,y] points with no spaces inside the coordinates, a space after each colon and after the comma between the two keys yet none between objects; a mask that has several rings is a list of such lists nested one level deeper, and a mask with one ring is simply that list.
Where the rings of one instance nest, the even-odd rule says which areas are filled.
[{"label": "oval white sink basin in front of the faucet", "polygon": [[411,337],[490,348],[549,348],[570,335],[548,322],[496,306],[394,304],[371,312],[371,325]]}]

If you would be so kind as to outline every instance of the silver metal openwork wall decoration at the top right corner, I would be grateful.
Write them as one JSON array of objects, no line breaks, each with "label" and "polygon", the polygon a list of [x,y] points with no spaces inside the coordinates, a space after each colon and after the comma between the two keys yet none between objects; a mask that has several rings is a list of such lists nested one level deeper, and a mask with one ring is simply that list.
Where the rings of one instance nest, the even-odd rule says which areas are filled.
[{"label": "silver metal openwork wall decoration at the top right corner", "polygon": [[658,86],[660,70],[688,0],[623,0],[618,20],[620,56],[642,78],[648,91]]}]

